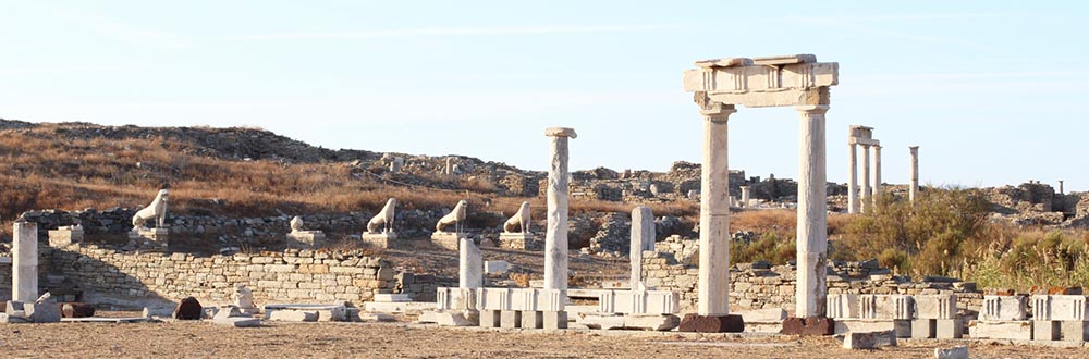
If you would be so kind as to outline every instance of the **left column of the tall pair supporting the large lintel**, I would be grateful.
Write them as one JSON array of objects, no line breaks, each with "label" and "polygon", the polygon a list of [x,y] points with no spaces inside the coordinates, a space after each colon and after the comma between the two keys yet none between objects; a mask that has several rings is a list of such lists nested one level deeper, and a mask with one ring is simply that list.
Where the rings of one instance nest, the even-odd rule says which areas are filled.
[{"label": "left column of the tall pair supporting the large lintel", "polygon": [[730,314],[730,166],[726,121],[733,104],[712,103],[703,115],[703,163],[700,171],[699,280],[697,313]]}]

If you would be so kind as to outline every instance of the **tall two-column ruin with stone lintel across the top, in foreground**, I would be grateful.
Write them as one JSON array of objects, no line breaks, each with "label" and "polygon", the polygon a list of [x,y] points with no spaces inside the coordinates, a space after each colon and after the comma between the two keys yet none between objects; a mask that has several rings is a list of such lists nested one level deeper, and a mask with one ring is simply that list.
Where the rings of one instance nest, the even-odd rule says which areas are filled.
[{"label": "tall two-column ruin with stone lintel across the top, in foreground", "polygon": [[681,331],[738,332],[730,314],[730,231],[726,121],[735,106],[794,107],[800,113],[798,182],[797,315],[824,317],[828,213],[825,205],[824,113],[839,64],[819,63],[811,54],[727,58],[696,62],[685,71],[684,87],[695,92],[703,116],[699,280],[697,313],[686,314]]}]

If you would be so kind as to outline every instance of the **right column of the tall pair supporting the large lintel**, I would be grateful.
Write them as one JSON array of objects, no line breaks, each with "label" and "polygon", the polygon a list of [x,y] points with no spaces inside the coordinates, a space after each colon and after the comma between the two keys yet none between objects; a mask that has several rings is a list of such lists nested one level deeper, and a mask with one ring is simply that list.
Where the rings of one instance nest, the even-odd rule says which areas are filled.
[{"label": "right column of the tall pair supporting the large lintel", "polygon": [[797,294],[795,317],[824,317],[828,296],[828,184],[824,113],[828,106],[799,106]]}]

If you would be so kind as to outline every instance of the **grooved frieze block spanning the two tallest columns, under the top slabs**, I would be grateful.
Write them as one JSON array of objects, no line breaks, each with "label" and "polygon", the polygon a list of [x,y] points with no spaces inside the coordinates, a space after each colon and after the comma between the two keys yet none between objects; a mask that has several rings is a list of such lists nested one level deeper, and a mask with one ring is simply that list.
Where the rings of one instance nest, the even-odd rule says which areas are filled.
[{"label": "grooved frieze block spanning the two tallest columns, under the top slabs", "polygon": [[684,89],[712,94],[774,92],[835,86],[839,77],[840,65],[835,62],[700,67],[685,70]]}]

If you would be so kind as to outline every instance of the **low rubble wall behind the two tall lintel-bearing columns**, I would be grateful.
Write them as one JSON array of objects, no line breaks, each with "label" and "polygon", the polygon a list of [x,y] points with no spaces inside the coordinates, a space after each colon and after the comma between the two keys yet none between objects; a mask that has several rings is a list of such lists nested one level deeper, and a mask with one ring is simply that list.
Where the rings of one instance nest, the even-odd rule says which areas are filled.
[{"label": "low rubble wall behind the two tall lintel-bearing columns", "polygon": [[[647,287],[676,290],[681,311],[696,310],[696,285],[699,270],[697,240],[672,236],[659,242],[654,256],[644,257],[643,275]],[[872,264],[871,264],[872,263]],[[783,308],[794,312],[797,268],[770,265],[767,262],[741,263],[730,269],[730,310],[745,311]],[[982,293],[975,283],[954,278],[928,277],[911,282],[879,269],[876,262],[841,262],[829,267],[829,294],[956,294],[959,308],[978,312]]]}]

